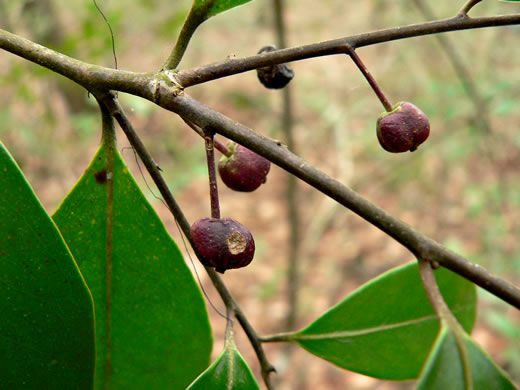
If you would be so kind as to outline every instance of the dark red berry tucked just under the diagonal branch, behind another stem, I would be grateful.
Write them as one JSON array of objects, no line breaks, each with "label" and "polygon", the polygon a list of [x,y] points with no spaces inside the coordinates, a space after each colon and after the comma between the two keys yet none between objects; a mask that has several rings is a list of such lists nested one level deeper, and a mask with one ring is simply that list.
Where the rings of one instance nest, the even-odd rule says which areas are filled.
[{"label": "dark red berry tucked just under the diagonal branch, behind another stem", "polygon": [[234,142],[228,144],[231,156],[218,163],[220,178],[235,191],[251,192],[265,182],[271,163],[248,148]]}]

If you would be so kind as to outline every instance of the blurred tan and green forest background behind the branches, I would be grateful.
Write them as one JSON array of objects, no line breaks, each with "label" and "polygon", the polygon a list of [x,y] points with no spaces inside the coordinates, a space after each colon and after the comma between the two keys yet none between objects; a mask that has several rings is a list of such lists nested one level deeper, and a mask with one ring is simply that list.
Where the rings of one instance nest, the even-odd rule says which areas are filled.
[{"label": "blurred tan and green forest background behind the branches", "polygon": [[[98,0],[115,35],[119,68],[160,69],[191,5],[189,0]],[[432,3],[432,2],[429,2]],[[456,14],[464,1],[286,1],[289,46]],[[319,4],[319,5],[317,5]],[[426,6],[426,8],[425,8]],[[484,1],[472,16],[520,12],[514,3]],[[431,14],[433,13],[433,14]],[[0,27],[83,61],[113,66],[110,33],[88,0],[0,0]],[[520,27],[426,36],[361,48],[358,54],[392,102],[411,101],[430,118],[431,135],[415,153],[379,146],[375,124],[383,108],[346,56],[293,63],[294,150],[421,232],[507,280],[520,283]],[[277,41],[273,3],[253,1],[200,27],[181,68],[255,54]],[[97,106],[61,76],[0,54],[0,139],[52,213],[99,146]],[[282,95],[264,89],[255,72],[190,88],[187,93],[272,138],[284,140]],[[164,170],[190,222],[209,215],[202,139],[182,120],[139,98],[121,94],[134,126]],[[118,130],[119,131],[119,130]],[[124,135],[124,159],[183,252],[166,207],[147,188]],[[221,137],[220,140],[224,141]],[[291,227],[288,175],[273,166],[254,193],[220,182],[222,215],[252,231],[257,255],[247,268],[223,277],[260,334],[299,329],[370,278],[413,260],[411,254],[352,212],[298,183],[299,284],[287,282]],[[204,270],[212,302],[223,307]],[[289,310],[289,291],[297,306]],[[519,312],[479,289],[474,337],[520,381]],[[209,308],[222,348],[225,320]],[[244,334],[239,348],[259,367]],[[265,345],[280,389],[410,389],[413,382],[379,381],[344,371],[296,347]],[[260,380],[260,379],[259,379]]]}]

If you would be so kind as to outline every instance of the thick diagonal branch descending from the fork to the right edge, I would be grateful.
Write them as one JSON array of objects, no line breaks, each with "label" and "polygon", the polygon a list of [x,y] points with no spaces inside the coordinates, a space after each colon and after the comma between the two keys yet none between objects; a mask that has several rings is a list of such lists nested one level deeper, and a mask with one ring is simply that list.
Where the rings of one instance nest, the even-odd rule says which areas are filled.
[{"label": "thick diagonal branch descending from the fork to the right edge", "polygon": [[211,110],[186,94],[165,98],[163,107],[176,112],[201,128],[211,128],[269,159],[325,195],[352,210],[396,241],[419,259],[431,259],[472,281],[483,289],[520,309],[520,289],[478,264],[450,251],[406,223],[388,214],[347,186],[314,168],[279,142],[263,137],[225,115]]}]

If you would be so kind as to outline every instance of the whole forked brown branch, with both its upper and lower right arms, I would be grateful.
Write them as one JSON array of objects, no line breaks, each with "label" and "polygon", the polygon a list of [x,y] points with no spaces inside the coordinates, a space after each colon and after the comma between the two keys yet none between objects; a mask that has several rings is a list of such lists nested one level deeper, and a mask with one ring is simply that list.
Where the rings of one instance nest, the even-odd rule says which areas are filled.
[{"label": "whole forked brown branch, with both its upper and lower right arms", "polygon": [[[90,65],[1,29],[0,48],[60,73],[87,89],[93,91],[115,89],[132,93],[155,102],[163,108],[177,112],[202,128],[211,125],[220,134],[256,151],[326,195],[336,199],[345,207],[394,237],[416,253],[417,257],[434,259],[444,267],[520,308],[520,290],[511,283],[500,279],[482,267],[467,261],[416,232],[354,191],[324,175],[316,168],[309,166],[304,160],[285,150],[280,144],[261,137],[245,126],[210,110],[188,96],[184,96],[182,87],[179,85],[179,83],[185,86],[194,85],[277,63],[322,55],[343,54],[346,44],[356,48],[413,36],[511,24],[520,24],[520,14],[484,18],[458,17],[277,50],[260,56],[228,60],[224,63],[208,65],[177,74],[170,72],[134,73]],[[197,74],[197,72],[200,72],[200,74]]]}]

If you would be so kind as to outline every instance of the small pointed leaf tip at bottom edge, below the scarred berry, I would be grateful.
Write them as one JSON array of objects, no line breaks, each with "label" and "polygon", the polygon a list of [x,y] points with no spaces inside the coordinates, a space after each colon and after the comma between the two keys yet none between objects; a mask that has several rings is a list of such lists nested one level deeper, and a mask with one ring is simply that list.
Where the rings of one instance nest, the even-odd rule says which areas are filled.
[{"label": "small pointed leaf tip at bottom edge, below the scarred berry", "polygon": [[238,352],[232,331],[226,336],[224,351],[187,390],[260,390],[251,369]]}]

